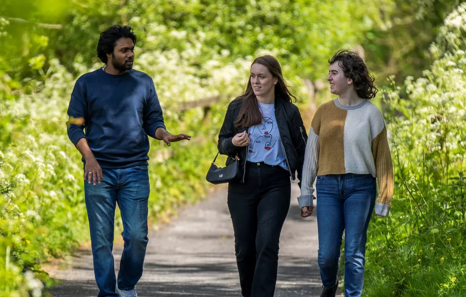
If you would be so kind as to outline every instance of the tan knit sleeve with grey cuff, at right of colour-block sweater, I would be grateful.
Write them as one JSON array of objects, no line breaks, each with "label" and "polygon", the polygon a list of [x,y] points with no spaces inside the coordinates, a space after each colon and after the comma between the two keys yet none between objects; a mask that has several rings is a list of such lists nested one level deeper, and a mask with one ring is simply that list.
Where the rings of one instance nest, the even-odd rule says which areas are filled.
[{"label": "tan knit sleeve with grey cuff, at right of colour-block sweater", "polygon": [[384,124],[381,132],[372,140],[372,156],[374,157],[377,183],[379,185],[379,197],[376,201],[375,213],[386,216],[391,208],[395,182],[393,177],[392,157],[388,145],[387,129]]}]

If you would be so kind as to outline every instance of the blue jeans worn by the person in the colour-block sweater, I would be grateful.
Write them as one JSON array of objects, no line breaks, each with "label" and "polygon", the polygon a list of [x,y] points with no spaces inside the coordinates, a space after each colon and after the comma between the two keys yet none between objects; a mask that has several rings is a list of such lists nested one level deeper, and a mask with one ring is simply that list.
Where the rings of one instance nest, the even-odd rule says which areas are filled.
[{"label": "blue jeans worn by the person in the colour-block sweater", "polygon": [[372,175],[317,176],[318,264],[324,287],[336,283],[345,231],[345,297],[361,296],[366,234],[377,194]]}]

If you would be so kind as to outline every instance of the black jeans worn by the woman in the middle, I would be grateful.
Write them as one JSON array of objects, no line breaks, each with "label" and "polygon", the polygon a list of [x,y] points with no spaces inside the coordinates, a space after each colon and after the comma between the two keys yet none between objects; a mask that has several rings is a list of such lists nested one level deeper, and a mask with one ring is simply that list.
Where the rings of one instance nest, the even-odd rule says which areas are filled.
[{"label": "black jeans worn by the woman in the middle", "polygon": [[228,186],[228,209],[244,297],[273,297],[280,233],[290,196],[288,171],[264,163],[247,162],[245,182],[230,182]]}]

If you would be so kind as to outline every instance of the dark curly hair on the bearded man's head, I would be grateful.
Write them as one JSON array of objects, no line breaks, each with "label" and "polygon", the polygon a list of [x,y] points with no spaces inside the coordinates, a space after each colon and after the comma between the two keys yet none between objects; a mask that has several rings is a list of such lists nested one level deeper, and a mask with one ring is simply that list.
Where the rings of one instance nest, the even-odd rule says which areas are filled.
[{"label": "dark curly hair on the bearded man's head", "polygon": [[99,57],[102,63],[107,64],[107,54],[113,53],[116,41],[123,37],[131,38],[133,40],[133,44],[136,45],[136,34],[134,34],[133,27],[130,25],[114,25],[100,33],[99,43],[97,44],[96,49],[96,56]]}]

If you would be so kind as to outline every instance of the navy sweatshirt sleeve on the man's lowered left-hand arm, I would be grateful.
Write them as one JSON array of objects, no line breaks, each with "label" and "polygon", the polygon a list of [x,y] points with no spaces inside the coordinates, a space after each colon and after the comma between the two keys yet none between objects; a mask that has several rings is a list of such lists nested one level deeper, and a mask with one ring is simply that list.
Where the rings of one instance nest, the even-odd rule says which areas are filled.
[{"label": "navy sweatshirt sleeve on the man's lowered left-hand arm", "polygon": [[[68,105],[68,121],[67,133],[68,138],[76,147],[81,138],[86,138],[84,128],[86,127],[87,116],[87,100],[86,93],[83,88],[83,79],[78,79],[74,85],[71,99]],[[87,138],[86,138],[87,139]]]}]

